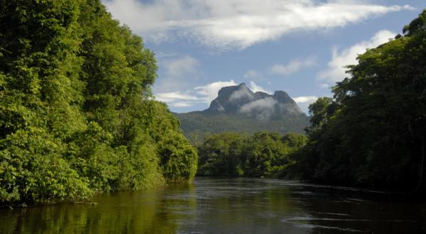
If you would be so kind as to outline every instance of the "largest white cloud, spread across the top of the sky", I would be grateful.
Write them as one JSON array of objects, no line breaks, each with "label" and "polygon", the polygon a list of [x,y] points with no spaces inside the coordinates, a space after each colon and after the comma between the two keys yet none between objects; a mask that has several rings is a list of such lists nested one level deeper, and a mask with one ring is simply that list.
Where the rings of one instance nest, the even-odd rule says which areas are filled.
[{"label": "largest white cloud, spread across the top of the sky", "polygon": [[121,23],[147,40],[195,40],[208,47],[244,49],[297,30],[343,27],[410,6],[316,0],[104,0]]}]

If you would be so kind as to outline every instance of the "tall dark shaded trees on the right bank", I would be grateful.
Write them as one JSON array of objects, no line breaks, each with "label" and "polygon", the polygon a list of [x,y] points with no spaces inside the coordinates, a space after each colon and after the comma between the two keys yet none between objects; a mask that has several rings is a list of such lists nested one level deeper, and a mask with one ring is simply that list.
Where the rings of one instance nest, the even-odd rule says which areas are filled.
[{"label": "tall dark shaded trees on the right bank", "polygon": [[310,106],[295,171],[317,182],[425,189],[426,11],[404,35],[359,55],[334,99]]}]

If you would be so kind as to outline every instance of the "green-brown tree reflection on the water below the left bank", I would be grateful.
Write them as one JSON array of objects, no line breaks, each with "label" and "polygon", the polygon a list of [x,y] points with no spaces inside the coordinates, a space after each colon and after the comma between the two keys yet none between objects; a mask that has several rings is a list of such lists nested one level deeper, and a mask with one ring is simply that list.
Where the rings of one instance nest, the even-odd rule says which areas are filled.
[{"label": "green-brown tree reflection on the water below the left bank", "polygon": [[[0,210],[1,233],[175,233],[180,214],[170,207],[194,208],[194,196],[170,199],[170,194],[194,191],[190,184],[141,193],[97,196],[97,206],[62,204]],[[170,196],[169,196],[170,195]],[[186,217],[185,217],[186,218]]]}]

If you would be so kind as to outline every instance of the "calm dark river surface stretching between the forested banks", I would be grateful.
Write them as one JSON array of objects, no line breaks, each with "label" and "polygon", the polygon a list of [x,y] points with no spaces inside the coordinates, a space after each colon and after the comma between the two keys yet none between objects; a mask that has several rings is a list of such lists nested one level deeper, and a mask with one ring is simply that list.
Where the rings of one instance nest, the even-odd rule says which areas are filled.
[{"label": "calm dark river surface stretching between the forested banks", "polygon": [[1,233],[426,233],[426,204],[275,179],[103,194],[96,206],[0,209]]}]

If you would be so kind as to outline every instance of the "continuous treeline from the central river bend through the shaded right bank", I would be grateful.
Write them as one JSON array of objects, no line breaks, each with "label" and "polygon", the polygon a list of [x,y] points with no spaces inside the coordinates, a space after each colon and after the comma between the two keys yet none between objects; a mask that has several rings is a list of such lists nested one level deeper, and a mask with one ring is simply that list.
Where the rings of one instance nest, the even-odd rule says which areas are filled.
[{"label": "continuous treeline from the central river bend through the shaded right bank", "polygon": [[333,98],[310,105],[306,145],[300,136],[298,150],[268,133],[211,136],[199,146],[198,173],[425,191],[426,11],[358,61]]}]

